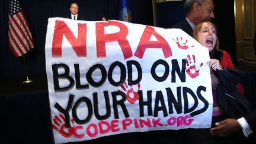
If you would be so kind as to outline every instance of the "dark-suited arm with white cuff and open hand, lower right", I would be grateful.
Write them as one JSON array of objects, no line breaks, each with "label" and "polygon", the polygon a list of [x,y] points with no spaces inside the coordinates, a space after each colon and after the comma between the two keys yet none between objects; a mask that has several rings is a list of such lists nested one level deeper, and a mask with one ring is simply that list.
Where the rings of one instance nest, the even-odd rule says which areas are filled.
[{"label": "dark-suited arm with white cuff and open hand, lower right", "polygon": [[[242,79],[243,87],[246,91],[246,97],[249,101],[249,105],[252,108],[252,113],[241,117],[240,119],[226,119],[215,123],[216,127],[210,129],[210,133],[214,136],[238,136],[238,140],[242,140],[241,143],[255,143],[256,140],[256,72],[243,72],[236,69],[230,69],[233,75],[239,76]],[[240,132],[239,132],[240,131]],[[239,132],[239,133],[238,133]],[[240,133],[244,133],[244,136],[240,136]],[[243,135],[243,134],[242,134]],[[245,137],[247,137],[245,139]]]}]

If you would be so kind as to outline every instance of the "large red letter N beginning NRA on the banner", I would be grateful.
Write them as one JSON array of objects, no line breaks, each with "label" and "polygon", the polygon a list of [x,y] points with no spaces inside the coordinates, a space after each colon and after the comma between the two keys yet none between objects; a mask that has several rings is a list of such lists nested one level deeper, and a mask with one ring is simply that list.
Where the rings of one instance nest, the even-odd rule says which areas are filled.
[{"label": "large red letter N beginning NRA on the banner", "polygon": [[55,31],[53,34],[52,43],[52,55],[53,57],[62,57],[62,39],[65,35],[66,39],[69,41],[73,50],[77,56],[87,56],[86,50],[86,35],[87,35],[87,25],[78,24],[78,38],[74,36],[71,29],[63,21],[56,21]]}]

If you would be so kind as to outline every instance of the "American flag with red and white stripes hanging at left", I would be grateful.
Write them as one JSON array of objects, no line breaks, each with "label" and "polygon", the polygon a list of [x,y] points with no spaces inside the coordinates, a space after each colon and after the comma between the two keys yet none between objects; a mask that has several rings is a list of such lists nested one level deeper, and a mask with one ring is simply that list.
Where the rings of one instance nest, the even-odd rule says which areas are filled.
[{"label": "American flag with red and white stripes hanging at left", "polygon": [[9,46],[16,57],[34,47],[27,20],[18,0],[9,0]]}]

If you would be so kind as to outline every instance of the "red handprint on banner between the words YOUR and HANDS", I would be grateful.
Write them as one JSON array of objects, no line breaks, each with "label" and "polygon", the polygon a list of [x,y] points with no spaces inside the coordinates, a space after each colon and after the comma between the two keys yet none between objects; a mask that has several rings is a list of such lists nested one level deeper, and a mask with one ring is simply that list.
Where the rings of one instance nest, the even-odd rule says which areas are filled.
[{"label": "red handprint on banner between the words YOUR and HANDS", "polygon": [[126,82],[121,84],[120,87],[126,92],[126,100],[129,103],[134,104],[139,99],[138,91],[140,89],[140,84],[137,84],[137,92],[133,90],[132,85],[127,85]]}]

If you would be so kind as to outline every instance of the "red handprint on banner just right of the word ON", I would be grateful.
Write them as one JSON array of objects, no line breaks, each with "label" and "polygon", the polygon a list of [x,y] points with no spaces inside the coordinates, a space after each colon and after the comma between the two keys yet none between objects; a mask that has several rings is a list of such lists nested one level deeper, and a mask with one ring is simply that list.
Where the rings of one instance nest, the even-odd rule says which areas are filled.
[{"label": "red handprint on banner just right of the word ON", "polygon": [[[193,57],[193,62],[191,61],[191,57],[190,55],[187,56],[186,58],[186,63],[187,63],[187,66],[186,66],[186,72],[188,73],[188,75],[191,77],[191,78],[196,78],[196,76],[199,75],[199,71],[200,69],[196,69],[196,58],[194,55],[192,55]],[[200,67],[203,65],[203,63],[200,64]],[[194,73],[191,72],[191,70],[194,69]]]}]

